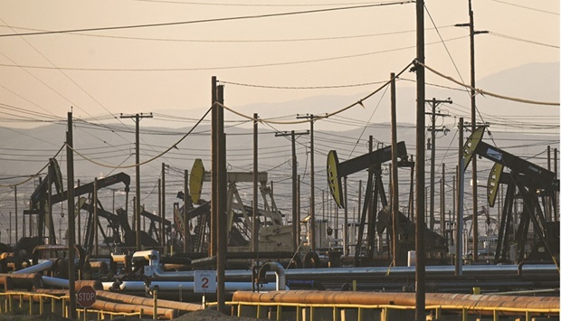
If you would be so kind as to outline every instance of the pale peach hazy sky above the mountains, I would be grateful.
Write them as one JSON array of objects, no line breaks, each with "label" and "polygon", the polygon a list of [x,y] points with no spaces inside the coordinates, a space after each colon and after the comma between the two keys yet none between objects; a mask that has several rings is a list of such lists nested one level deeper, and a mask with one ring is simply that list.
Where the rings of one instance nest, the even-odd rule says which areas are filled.
[{"label": "pale peach hazy sky above the mountains", "polygon": [[[358,5],[373,6],[254,17]],[[469,83],[468,29],[453,26],[469,22],[468,1],[426,0],[425,8],[427,65]],[[558,0],[478,0],[473,12],[475,29],[490,32],[476,36],[478,79],[559,61]],[[242,16],[253,17],[216,21]],[[212,76],[226,82],[232,107],[357,94],[375,90],[416,52],[415,5],[408,2],[4,0],[0,19],[3,35],[182,23],[0,37],[2,126],[14,126],[6,118],[66,118],[71,107],[77,118],[158,109],[198,118],[210,105]],[[200,22],[207,19],[215,21]],[[427,81],[450,84],[430,72]],[[349,87],[302,89],[324,86]],[[260,116],[267,118],[267,110]]]}]

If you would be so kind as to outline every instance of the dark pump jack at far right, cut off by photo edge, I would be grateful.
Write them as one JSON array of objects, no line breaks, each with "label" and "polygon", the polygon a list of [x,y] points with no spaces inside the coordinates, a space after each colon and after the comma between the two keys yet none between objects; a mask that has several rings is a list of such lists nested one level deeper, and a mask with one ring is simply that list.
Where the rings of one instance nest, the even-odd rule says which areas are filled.
[{"label": "dark pump jack at far right, cut off by photo edge", "polygon": [[[478,127],[467,139],[463,146],[464,170],[470,164],[474,155],[485,157],[494,162],[488,180],[488,203],[490,207],[495,204],[499,184],[507,184],[505,203],[499,220],[499,237],[495,262],[507,262],[509,243],[514,239],[518,247],[517,257],[510,258],[521,262],[523,260],[558,260],[559,257],[559,224],[547,222],[540,205],[540,198],[545,204],[548,197],[556,209],[556,192],[559,191],[559,180],[553,172],[532,164],[525,159],[509,154],[495,146],[486,144],[481,139],[485,127]],[[509,173],[503,173],[504,168],[509,168]],[[516,232],[513,230],[513,203],[515,193],[522,198],[523,211]],[[544,206],[545,208],[545,206]],[[532,222],[534,237],[537,240],[528,240],[528,230]],[[510,237],[512,236],[512,238]],[[530,244],[533,241],[533,244]],[[525,247],[532,245],[531,253],[525,258]],[[558,263],[556,263],[557,265]]]}]

